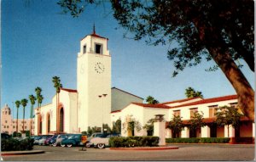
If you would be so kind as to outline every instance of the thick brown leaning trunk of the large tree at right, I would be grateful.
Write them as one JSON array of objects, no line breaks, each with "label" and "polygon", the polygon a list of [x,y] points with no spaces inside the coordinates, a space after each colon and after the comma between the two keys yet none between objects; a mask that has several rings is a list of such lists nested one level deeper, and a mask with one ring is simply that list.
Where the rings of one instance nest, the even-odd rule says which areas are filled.
[{"label": "thick brown leaning trunk of the large tree at right", "polygon": [[231,85],[235,88],[238,97],[238,108],[243,115],[254,120],[254,91],[247,78],[241,73],[230,53],[224,53],[220,47],[208,47],[212,59],[224,72]]}]

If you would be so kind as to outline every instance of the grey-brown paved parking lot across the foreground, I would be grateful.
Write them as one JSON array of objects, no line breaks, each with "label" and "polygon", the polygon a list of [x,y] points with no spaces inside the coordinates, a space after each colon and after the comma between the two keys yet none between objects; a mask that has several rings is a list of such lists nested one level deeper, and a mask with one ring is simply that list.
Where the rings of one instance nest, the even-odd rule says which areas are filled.
[{"label": "grey-brown paved parking lot across the foreground", "polygon": [[86,148],[86,151],[81,151],[80,147],[34,146],[34,149],[44,150],[45,153],[4,156],[3,160],[253,160],[255,158],[255,146],[253,144],[173,144],[172,146],[179,148],[157,151]]}]

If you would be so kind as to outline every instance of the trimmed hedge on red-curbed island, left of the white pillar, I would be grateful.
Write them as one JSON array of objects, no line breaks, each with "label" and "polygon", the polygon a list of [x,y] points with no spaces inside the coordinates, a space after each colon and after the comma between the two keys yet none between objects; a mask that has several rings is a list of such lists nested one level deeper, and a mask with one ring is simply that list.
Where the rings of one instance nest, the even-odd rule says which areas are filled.
[{"label": "trimmed hedge on red-curbed island, left of the white pillar", "polygon": [[159,137],[110,137],[110,148],[126,147],[156,147],[159,143]]}]

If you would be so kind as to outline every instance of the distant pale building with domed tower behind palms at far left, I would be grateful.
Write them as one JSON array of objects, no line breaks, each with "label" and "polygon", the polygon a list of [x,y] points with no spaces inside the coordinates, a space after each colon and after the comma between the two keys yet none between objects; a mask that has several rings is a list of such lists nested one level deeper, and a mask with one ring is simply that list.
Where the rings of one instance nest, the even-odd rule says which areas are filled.
[{"label": "distant pale building with domed tower behind palms at far left", "polygon": [[[30,126],[32,123],[32,135],[34,134],[34,120],[25,119],[24,120],[24,131],[30,131]],[[23,119],[13,119],[12,112],[9,106],[6,104],[3,109],[1,109],[1,132],[13,134],[15,131],[23,131]]]}]

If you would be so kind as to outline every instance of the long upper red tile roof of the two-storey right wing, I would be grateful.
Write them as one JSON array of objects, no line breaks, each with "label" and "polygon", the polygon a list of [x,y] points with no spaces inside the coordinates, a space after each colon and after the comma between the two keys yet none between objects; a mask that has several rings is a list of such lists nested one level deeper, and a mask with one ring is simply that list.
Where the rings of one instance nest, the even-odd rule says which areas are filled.
[{"label": "long upper red tile roof of the two-storey right wing", "polygon": [[215,102],[226,101],[226,100],[230,100],[230,99],[237,99],[237,95],[223,96],[223,97],[218,97],[218,98],[207,98],[207,99],[202,99],[200,101],[195,101],[193,103],[185,103],[185,104],[173,106],[172,108],[192,106],[192,105],[203,104],[203,103],[215,103]]}]

